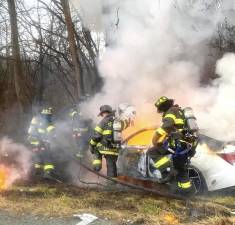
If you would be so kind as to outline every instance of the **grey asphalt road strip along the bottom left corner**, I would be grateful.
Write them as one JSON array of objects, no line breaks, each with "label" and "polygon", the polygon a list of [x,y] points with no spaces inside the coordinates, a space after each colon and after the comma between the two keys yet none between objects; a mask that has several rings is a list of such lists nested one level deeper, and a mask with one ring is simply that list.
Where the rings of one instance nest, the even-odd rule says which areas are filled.
[{"label": "grey asphalt road strip along the bottom left corner", "polygon": [[0,225],[117,225],[117,223],[97,219],[92,223],[81,223],[78,217],[55,218],[31,215],[11,215],[7,212],[0,211]]}]

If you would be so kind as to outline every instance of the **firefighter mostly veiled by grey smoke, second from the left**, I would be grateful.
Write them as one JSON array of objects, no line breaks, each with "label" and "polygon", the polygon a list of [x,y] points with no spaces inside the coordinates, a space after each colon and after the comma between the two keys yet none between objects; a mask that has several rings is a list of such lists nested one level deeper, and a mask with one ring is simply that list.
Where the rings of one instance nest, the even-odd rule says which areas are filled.
[{"label": "firefighter mostly veiled by grey smoke, second from the left", "polygon": [[74,106],[69,113],[73,139],[75,140],[78,152],[76,156],[82,158],[89,147],[91,131],[91,120],[84,118],[79,106]]}]

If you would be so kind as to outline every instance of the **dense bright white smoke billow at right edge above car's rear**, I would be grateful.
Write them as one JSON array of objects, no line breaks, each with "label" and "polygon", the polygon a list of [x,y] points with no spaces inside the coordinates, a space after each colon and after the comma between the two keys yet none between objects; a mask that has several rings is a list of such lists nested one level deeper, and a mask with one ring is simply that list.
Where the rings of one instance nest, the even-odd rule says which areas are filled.
[{"label": "dense bright white smoke billow at right edge above car's rear", "polygon": [[207,133],[216,134],[218,138],[234,140],[235,138],[235,54],[228,53],[217,61],[216,73],[220,78],[215,80],[213,103],[202,111],[200,118],[205,127],[210,127]]}]

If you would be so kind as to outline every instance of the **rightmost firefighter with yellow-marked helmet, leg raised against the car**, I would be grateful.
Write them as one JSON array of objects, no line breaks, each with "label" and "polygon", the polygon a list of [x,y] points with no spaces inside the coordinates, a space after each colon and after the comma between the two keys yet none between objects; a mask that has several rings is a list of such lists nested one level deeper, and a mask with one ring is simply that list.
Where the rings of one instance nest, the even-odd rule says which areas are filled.
[{"label": "rightmost firefighter with yellow-marked helmet, leg raised against the car", "polygon": [[[150,149],[149,153],[154,160],[154,165],[158,170],[163,170],[169,167],[170,159],[166,156],[172,154],[169,151],[176,149],[176,144],[180,144],[183,149],[187,149],[188,144],[192,147],[191,152],[188,154],[195,153],[196,141],[193,138],[187,137],[187,126],[183,110],[178,106],[174,105],[174,100],[169,99],[165,96],[160,97],[155,106],[159,113],[162,113],[162,125],[154,133],[152,142],[153,148]],[[168,147],[164,145],[165,141],[168,140]],[[194,187],[188,176],[187,170],[188,155],[176,156],[173,158],[173,166],[177,170],[177,191],[180,193],[191,193],[194,191]]]}]

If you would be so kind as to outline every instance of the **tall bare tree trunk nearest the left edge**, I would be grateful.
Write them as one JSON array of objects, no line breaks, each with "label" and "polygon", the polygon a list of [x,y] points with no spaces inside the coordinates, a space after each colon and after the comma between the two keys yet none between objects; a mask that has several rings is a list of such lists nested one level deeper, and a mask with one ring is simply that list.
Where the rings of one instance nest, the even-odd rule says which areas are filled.
[{"label": "tall bare tree trunk nearest the left edge", "polygon": [[17,15],[15,0],[7,0],[8,11],[10,16],[11,25],[11,48],[12,48],[12,59],[14,63],[14,86],[17,97],[17,102],[21,113],[27,112],[28,102],[27,97],[24,95],[23,87],[23,67],[20,59],[20,47],[19,47],[19,33],[17,26]]}]

